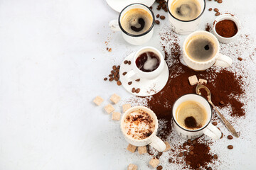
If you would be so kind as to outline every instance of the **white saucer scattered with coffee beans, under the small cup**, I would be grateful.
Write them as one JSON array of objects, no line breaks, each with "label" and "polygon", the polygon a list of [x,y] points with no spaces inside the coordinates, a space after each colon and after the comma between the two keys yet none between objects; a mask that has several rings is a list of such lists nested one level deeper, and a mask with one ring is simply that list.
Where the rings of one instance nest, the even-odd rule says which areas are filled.
[{"label": "white saucer scattered with coffee beans, under the small cup", "polygon": [[[124,60],[131,61],[132,57],[134,57],[135,52],[132,52],[132,54],[128,55]],[[166,62],[164,62],[164,70],[161,72],[159,77],[156,77],[156,79],[143,79],[143,77],[139,77],[140,81],[135,81],[132,79],[127,79],[123,75],[123,72],[129,72],[132,69],[132,65],[124,64],[122,62],[121,67],[119,69],[119,77],[120,81],[122,82],[122,86],[124,89],[126,89],[130,94],[134,94],[136,96],[151,96],[154,94],[157,94],[161,89],[164,88],[166,85],[166,82],[169,78],[169,69],[167,67]],[[129,85],[128,82],[132,81],[132,84]],[[132,88],[140,89],[139,93],[132,93]]]}]

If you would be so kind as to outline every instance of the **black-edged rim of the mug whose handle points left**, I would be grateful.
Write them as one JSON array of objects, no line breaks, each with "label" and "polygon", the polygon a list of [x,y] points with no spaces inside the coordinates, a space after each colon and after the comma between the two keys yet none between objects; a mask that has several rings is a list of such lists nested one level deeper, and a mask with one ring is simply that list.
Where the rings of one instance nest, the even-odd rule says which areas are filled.
[{"label": "black-edged rim of the mug whose handle points left", "polygon": [[[134,34],[128,33],[126,30],[124,30],[124,28],[122,28],[122,25],[121,25],[121,15],[122,15],[122,12],[123,12],[126,8],[128,8],[129,6],[133,6],[133,5],[145,6],[145,7],[148,8],[149,11],[151,12],[151,16],[152,16],[152,18],[153,18],[152,24],[151,24],[151,27],[149,28],[149,30],[146,30],[145,33],[138,34],[138,35],[134,35]],[[154,28],[154,23],[155,23],[155,18],[154,18],[154,13],[153,13],[153,11],[152,11],[148,6],[146,6],[146,5],[144,5],[144,4],[140,4],[140,3],[134,3],[134,4],[129,4],[128,6],[125,6],[125,7],[122,9],[122,11],[119,13],[119,17],[118,17],[119,28],[122,30],[123,33],[125,33],[125,34],[127,34],[127,35],[129,35],[129,36],[131,36],[131,37],[141,37],[141,36],[143,36],[143,35],[146,35],[147,33],[149,33],[149,32]]]}]

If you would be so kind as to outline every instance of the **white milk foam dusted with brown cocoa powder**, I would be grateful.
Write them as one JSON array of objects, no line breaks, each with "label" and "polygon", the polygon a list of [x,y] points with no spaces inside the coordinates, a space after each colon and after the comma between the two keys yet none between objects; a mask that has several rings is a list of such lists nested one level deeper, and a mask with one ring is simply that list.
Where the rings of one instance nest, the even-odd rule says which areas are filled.
[{"label": "white milk foam dusted with brown cocoa powder", "polygon": [[134,140],[144,140],[154,132],[155,126],[151,115],[138,109],[127,115],[124,119],[123,128],[124,132]]}]

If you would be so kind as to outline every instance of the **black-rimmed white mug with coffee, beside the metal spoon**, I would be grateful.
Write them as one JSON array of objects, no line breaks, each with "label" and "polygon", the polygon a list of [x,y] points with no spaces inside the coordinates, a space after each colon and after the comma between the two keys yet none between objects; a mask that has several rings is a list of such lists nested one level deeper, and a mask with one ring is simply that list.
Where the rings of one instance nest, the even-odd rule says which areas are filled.
[{"label": "black-rimmed white mug with coffee, beside the metal spoon", "polygon": [[221,132],[211,122],[212,109],[206,98],[197,94],[186,94],[174,102],[172,108],[174,128],[178,135],[193,139],[205,134],[213,140],[221,137]]}]

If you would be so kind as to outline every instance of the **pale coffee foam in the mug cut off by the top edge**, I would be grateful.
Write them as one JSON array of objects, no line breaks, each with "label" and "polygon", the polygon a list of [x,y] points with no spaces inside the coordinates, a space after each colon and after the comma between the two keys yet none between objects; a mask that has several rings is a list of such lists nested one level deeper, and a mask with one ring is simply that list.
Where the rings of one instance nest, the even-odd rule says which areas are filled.
[{"label": "pale coffee foam in the mug cut off by the top edge", "polygon": [[201,13],[198,0],[176,0],[171,3],[171,14],[182,21],[191,21]]}]

